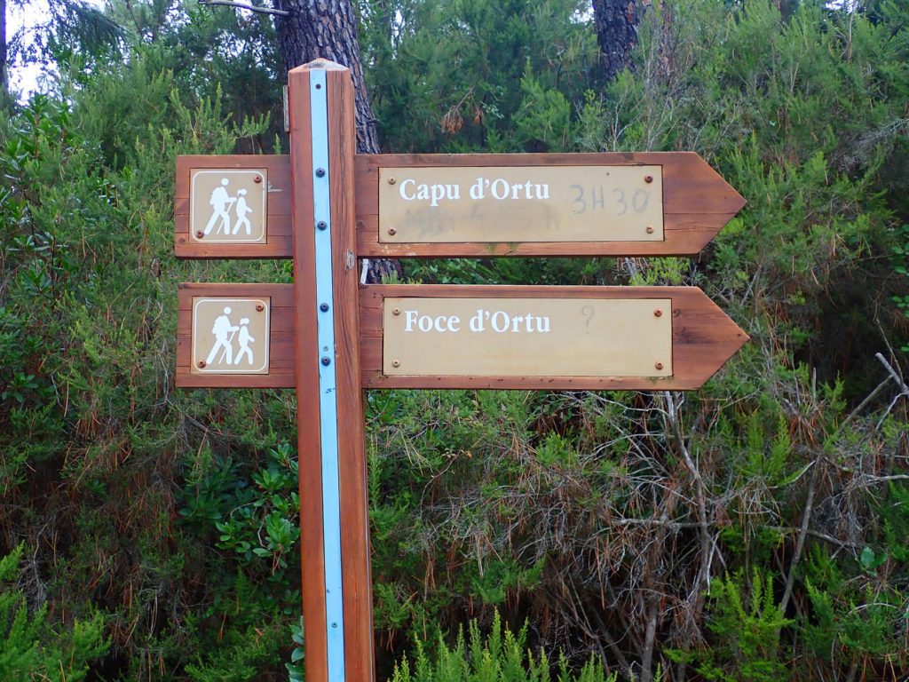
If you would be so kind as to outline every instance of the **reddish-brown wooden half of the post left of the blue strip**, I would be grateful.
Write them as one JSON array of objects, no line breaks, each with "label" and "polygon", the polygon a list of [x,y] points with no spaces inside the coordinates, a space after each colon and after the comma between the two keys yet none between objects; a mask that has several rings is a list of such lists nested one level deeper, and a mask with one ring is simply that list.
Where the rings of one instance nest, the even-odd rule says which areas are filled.
[{"label": "reddish-brown wooden half of the post left of the blue strip", "polygon": [[296,303],[297,456],[300,463],[300,551],[303,570],[306,679],[327,682],[325,540],[322,518],[322,444],[319,424],[318,337],[315,327],[313,153],[309,72],[287,75],[290,106],[294,296]]}]

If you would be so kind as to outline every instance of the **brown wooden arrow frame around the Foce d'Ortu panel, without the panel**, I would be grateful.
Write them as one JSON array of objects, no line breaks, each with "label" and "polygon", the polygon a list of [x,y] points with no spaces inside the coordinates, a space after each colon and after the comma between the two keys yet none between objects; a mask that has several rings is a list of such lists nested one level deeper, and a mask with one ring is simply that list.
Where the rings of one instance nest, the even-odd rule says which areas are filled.
[{"label": "brown wooden arrow frame around the Foce d'Ortu panel, without the panel", "polygon": [[[432,298],[671,298],[673,376],[385,376],[382,374],[382,301]],[[431,286],[360,287],[363,386],[368,388],[526,388],[550,390],[694,390],[749,340],[697,287],[687,286]]]}]

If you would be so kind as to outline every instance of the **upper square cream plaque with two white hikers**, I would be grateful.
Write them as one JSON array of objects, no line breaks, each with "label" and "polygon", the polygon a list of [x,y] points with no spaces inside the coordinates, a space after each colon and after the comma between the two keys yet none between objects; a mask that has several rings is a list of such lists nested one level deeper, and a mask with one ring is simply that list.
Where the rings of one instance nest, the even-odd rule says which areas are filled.
[{"label": "upper square cream plaque with two white hikers", "polygon": [[265,168],[190,171],[189,234],[200,244],[265,242]]}]

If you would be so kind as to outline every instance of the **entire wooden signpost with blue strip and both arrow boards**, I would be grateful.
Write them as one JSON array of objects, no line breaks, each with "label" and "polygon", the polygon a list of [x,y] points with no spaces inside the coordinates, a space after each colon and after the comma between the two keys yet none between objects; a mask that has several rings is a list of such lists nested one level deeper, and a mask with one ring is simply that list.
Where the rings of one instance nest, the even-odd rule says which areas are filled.
[{"label": "entire wooden signpost with blue strip and both arrow boards", "polygon": [[358,259],[684,256],[744,206],[691,153],[355,155],[346,68],[288,75],[289,156],[177,160],[177,386],[296,387],[306,679],[373,674],[363,388],[690,390],[748,337],[696,287],[359,286]]}]

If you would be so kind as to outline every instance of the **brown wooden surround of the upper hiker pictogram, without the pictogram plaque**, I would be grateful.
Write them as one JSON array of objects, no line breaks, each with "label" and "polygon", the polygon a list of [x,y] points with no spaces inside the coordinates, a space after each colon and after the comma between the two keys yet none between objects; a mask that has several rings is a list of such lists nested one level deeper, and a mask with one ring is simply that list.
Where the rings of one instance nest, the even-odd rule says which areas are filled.
[{"label": "brown wooden surround of the upper hiker pictogram, without the pictogram plaque", "polygon": [[[195,168],[265,168],[268,171],[271,189],[268,192],[264,244],[205,245],[190,238],[189,178]],[[290,156],[177,156],[174,205],[175,254],[178,258],[290,258],[294,255],[291,204]]]}]

